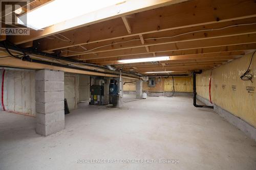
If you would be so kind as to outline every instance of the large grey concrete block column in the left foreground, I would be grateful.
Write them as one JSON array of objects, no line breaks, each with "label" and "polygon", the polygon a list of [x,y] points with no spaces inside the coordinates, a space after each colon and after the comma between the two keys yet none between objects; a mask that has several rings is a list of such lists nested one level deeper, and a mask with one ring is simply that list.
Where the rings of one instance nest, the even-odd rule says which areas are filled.
[{"label": "large grey concrete block column in the left foreground", "polygon": [[47,136],[64,128],[64,72],[37,70],[36,133]]}]

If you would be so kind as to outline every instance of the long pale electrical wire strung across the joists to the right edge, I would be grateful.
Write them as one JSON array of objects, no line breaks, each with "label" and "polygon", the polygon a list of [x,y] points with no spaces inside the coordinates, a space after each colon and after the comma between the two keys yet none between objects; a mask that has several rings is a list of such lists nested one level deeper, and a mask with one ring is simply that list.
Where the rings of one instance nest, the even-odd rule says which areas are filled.
[{"label": "long pale electrical wire strung across the joists to the right edge", "polygon": [[[182,35],[187,35],[187,34],[191,34],[191,33],[198,33],[198,32],[204,32],[204,31],[218,31],[218,30],[224,30],[224,29],[227,29],[227,28],[232,28],[232,27],[239,27],[239,26],[249,26],[249,25],[255,25],[256,22],[253,22],[253,23],[242,23],[242,24],[238,24],[238,25],[232,25],[232,26],[226,26],[226,27],[222,27],[222,28],[218,28],[218,29],[206,29],[206,30],[198,30],[198,31],[191,31],[191,32],[187,32],[187,33],[182,33],[182,34],[177,34],[177,35],[174,35],[174,36],[167,36],[167,37],[157,37],[157,38],[145,38],[144,40],[156,40],[156,39],[164,39],[164,38],[174,38],[174,37],[178,37],[178,36],[182,36]],[[71,41],[69,38],[61,35],[61,34],[58,34],[64,38],[66,38],[67,40],[63,40],[59,37],[56,37],[60,40],[63,40],[63,41]],[[91,52],[91,51],[94,51],[98,48],[102,48],[102,47],[105,47],[105,46],[109,46],[109,45],[115,45],[115,44],[119,44],[119,43],[125,43],[125,42],[131,42],[131,41],[140,41],[140,39],[132,39],[132,40],[127,40],[127,41],[120,41],[120,42],[115,42],[115,43],[111,43],[111,44],[106,44],[106,45],[102,45],[102,46],[98,46],[98,47],[95,47],[95,48],[92,48],[91,50],[87,50],[87,51],[81,51],[81,52],[78,52],[78,51],[70,51],[70,50],[66,50],[66,51],[62,51],[61,53],[64,53],[64,52],[73,52],[73,53],[85,53],[85,52]],[[79,45],[81,46],[81,45]],[[82,46],[81,46],[82,47]]]}]

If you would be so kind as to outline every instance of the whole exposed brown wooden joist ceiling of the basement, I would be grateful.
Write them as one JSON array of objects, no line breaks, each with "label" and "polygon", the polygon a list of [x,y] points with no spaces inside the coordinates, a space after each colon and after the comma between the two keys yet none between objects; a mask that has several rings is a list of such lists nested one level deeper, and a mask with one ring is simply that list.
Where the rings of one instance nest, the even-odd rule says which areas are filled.
[{"label": "whole exposed brown wooden joist ceiling of the basement", "polygon": [[[128,72],[187,73],[212,69],[255,50],[255,9],[254,0],[127,0],[73,22],[2,40]],[[163,56],[170,60],[120,62]]]}]

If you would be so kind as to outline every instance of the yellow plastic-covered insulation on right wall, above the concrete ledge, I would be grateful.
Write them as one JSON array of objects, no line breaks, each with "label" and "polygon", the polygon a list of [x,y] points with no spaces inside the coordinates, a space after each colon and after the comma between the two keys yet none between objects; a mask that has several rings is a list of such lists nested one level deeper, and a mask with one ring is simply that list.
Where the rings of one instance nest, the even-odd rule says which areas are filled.
[{"label": "yellow plastic-covered insulation on right wall, above the concrete ledge", "polygon": [[[256,56],[250,67],[252,83],[240,79],[248,68],[251,56],[247,54],[212,70],[211,101],[256,128]],[[197,75],[197,94],[206,100],[209,100],[210,72],[208,70]]]}]

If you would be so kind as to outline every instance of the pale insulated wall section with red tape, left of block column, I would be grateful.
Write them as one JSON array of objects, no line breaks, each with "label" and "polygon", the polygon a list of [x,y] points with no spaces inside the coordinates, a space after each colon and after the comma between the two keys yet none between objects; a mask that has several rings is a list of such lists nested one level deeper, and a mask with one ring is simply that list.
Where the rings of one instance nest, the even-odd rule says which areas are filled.
[{"label": "pale insulated wall section with red tape, left of block column", "polygon": [[0,75],[2,95],[0,109],[35,115],[35,71],[2,69]]}]

